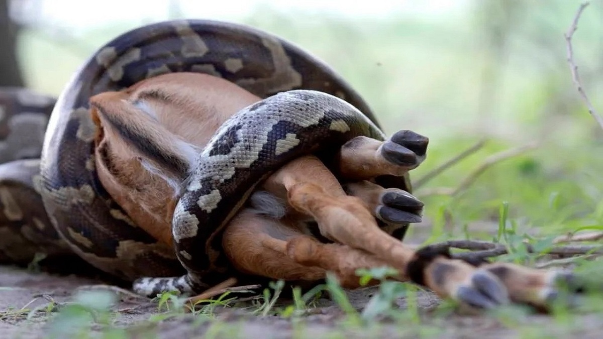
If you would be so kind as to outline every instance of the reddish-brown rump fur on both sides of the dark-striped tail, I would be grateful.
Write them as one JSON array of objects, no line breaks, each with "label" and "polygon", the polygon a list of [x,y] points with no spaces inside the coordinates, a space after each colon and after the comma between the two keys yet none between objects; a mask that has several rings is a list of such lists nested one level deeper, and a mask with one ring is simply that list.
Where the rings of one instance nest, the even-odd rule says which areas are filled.
[{"label": "reddish-brown rump fur on both sides of the dark-striped tail", "polygon": [[[219,125],[259,98],[221,78],[178,73],[141,81],[122,92],[101,93],[90,101],[98,130],[95,152],[101,183],[134,223],[171,246],[174,189],[159,175],[145,170],[140,155],[111,128],[101,112],[119,115],[141,131],[147,132],[153,125],[155,133],[148,134],[159,138],[156,144],[177,153],[172,147],[174,139],[203,147]],[[133,104],[137,101],[156,115],[141,112]]]}]

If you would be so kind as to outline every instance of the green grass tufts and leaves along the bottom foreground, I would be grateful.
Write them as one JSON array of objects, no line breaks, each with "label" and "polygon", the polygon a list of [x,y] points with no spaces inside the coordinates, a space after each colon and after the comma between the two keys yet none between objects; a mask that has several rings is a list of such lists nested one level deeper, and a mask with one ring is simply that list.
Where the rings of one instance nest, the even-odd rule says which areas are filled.
[{"label": "green grass tufts and leaves along the bottom foreground", "polygon": [[[586,262],[585,265],[592,266],[593,262]],[[589,268],[589,274],[594,272],[599,274],[599,278],[603,276],[601,267],[595,268],[594,271],[592,269],[593,267]],[[449,319],[459,317],[458,305],[447,300],[428,311],[420,309],[417,303],[418,288],[414,285],[386,280],[392,274],[396,274],[396,272],[388,268],[374,268],[358,272],[359,277],[366,281],[368,279],[382,281],[374,296],[360,311],[352,306],[347,294],[332,277],[329,277],[326,284],[314,291],[303,296],[294,293],[292,299],[283,300],[279,300],[279,295],[282,293],[284,285],[275,282],[270,285],[270,288],[267,288],[263,296],[257,298],[257,303],[252,303],[254,306],[248,307],[248,314],[250,317],[251,314],[256,314],[255,316],[258,318],[276,316],[288,319],[293,337],[303,338],[312,326],[305,320],[307,312],[314,308],[309,305],[308,301],[318,291],[324,291],[331,296],[342,314],[332,321],[331,329],[324,331],[320,338],[344,338],[346,333],[385,335],[387,331],[391,331],[391,326],[397,329],[397,334],[420,338],[440,337],[450,331]],[[202,333],[206,338],[222,338],[224,336],[243,338],[245,337],[245,320],[225,322],[218,316],[223,308],[228,308],[231,303],[235,302],[234,299],[229,299],[228,295],[229,293],[225,293],[218,298],[218,302],[206,304],[191,313],[184,311],[183,299],[164,293],[155,299],[157,314],[151,315],[147,322],[129,327],[116,322],[119,318],[119,311],[113,307],[116,305],[116,297],[109,291],[78,293],[74,297],[74,302],[62,305],[58,312],[53,311],[52,306],[48,305],[41,307],[40,311],[44,311],[45,314],[42,316],[49,319],[49,338],[87,339],[96,338],[99,335],[102,338],[129,338],[133,334],[144,334],[146,338],[154,338],[159,333],[154,330],[153,325],[166,320],[177,322],[178,319],[184,320],[191,317],[194,321],[186,322],[182,326],[204,326]],[[405,298],[406,308],[400,309],[395,305],[394,302],[399,298]],[[543,317],[534,318],[534,310],[525,305],[504,306],[494,311],[481,312],[479,317],[488,318],[501,328],[516,329],[522,338],[531,338],[536,335],[559,338],[581,331],[578,320],[582,315],[603,314],[601,302],[603,302],[603,293],[588,295],[577,307],[568,308],[565,303],[557,303],[552,307],[551,314],[546,316],[551,319],[553,324],[547,325],[547,328],[532,323],[534,321],[542,322]],[[295,311],[292,312],[291,309]],[[4,315],[3,318],[15,316],[19,312],[21,311]],[[32,312],[33,310],[29,313],[32,314]],[[246,320],[253,321],[250,317]]]}]

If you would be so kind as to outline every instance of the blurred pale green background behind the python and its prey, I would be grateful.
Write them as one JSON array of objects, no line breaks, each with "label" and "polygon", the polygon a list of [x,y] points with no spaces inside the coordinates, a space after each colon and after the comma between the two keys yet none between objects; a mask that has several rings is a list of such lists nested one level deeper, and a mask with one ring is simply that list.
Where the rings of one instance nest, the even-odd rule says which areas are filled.
[{"label": "blurred pale green background behind the python and its prey", "polygon": [[[136,5],[137,4],[137,5]],[[572,84],[563,33],[579,1],[87,1],[13,4],[21,24],[20,69],[28,87],[58,95],[96,48],[126,30],[175,18],[226,19],[291,40],[340,72],[387,133],[429,136],[418,179],[481,139],[478,152],[415,192],[425,240],[486,238],[500,205],[520,234],[553,234],[603,221],[603,133]],[[603,112],[603,1],[591,1],[573,46],[582,83]],[[455,188],[488,156],[534,143]],[[430,192],[431,191],[431,192]],[[421,233],[421,230],[426,232]]]}]

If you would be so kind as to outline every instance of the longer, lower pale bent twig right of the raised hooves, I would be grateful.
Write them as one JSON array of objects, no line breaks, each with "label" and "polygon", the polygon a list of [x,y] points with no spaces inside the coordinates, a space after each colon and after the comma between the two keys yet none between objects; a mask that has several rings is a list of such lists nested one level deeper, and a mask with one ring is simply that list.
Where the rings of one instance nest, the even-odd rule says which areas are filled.
[{"label": "longer, lower pale bent twig right of the raised hooves", "polygon": [[499,153],[494,153],[491,156],[487,157],[484,162],[482,162],[475,170],[473,170],[465,179],[456,187],[456,188],[432,188],[432,189],[423,189],[417,192],[417,196],[425,197],[427,195],[458,195],[459,193],[465,191],[469,186],[472,185],[475,180],[478,179],[481,174],[483,174],[488,168],[496,163],[501,162],[502,160],[509,159],[510,157],[518,156],[519,154],[525,153],[526,151],[532,150],[536,147],[536,144],[528,144],[523,145],[517,148],[511,148],[510,150],[501,151]]}]

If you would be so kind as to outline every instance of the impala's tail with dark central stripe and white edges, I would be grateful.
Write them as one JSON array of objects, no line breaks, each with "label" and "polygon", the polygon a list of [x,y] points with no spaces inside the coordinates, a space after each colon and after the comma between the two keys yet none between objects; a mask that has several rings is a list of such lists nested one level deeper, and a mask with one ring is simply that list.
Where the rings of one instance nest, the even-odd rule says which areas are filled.
[{"label": "impala's tail with dark central stripe and white edges", "polygon": [[145,106],[130,103],[124,97],[121,92],[95,95],[90,98],[92,115],[136,154],[147,171],[180,192],[199,148],[167,130]]}]

